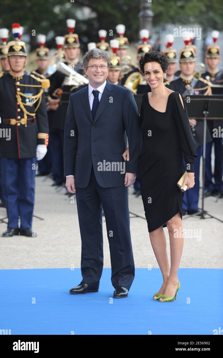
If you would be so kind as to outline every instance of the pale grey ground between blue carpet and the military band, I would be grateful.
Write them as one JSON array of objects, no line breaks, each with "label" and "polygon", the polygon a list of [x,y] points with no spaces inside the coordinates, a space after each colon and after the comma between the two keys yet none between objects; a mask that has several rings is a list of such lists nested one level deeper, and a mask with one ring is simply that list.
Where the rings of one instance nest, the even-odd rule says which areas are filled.
[{"label": "pale grey ground between blue carpet and the military band", "polygon": [[[80,267],[81,239],[76,200],[65,195],[65,189],[55,190],[51,179],[36,178],[33,230],[37,237],[1,237],[6,224],[0,224],[0,269],[34,269]],[[129,188],[129,211],[134,262],[136,267],[158,267],[148,234],[141,196]],[[73,201],[73,202],[72,202]],[[199,205],[201,207],[201,203]],[[205,210],[223,220],[223,199],[205,198]],[[0,208],[0,218],[6,209]],[[142,217],[142,218],[141,218]],[[183,229],[188,229],[180,267],[223,268],[223,223],[214,218],[184,216]],[[191,229],[194,229],[191,237]],[[170,262],[170,245],[167,228],[167,252]],[[103,217],[104,267],[110,267],[109,245]],[[190,236],[190,237],[189,237]],[[77,283],[77,282],[76,282]]]}]

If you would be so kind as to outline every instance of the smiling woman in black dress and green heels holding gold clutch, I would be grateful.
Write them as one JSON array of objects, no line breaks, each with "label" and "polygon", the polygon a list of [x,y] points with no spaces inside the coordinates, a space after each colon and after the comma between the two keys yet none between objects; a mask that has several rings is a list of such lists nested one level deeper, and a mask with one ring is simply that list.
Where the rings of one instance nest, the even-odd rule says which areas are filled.
[{"label": "smiling woman in black dress and green heels holding gold clutch", "polygon": [[[151,87],[151,92],[142,97],[140,112],[143,144],[139,183],[151,245],[163,276],[160,290],[153,295],[153,299],[160,302],[174,301],[180,288],[177,271],[184,243],[184,193],[177,182],[186,170],[188,174],[182,188],[185,184],[188,189],[193,188],[193,163],[198,147],[191,132],[184,100],[179,92],[171,91],[163,84],[168,65],[166,54],[157,51],[148,52],[139,60],[141,72]],[[169,231],[171,268],[163,227]]]}]

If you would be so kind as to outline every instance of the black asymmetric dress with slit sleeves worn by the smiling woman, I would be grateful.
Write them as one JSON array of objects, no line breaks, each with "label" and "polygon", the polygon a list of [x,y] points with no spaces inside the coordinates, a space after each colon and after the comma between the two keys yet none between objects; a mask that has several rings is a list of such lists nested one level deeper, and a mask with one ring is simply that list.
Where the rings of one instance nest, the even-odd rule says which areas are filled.
[{"label": "black asymmetric dress with slit sleeves worn by the smiling woman", "polygon": [[[168,97],[166,112],[155,110],[147,93],[142,97],[140,121],[143,144],[139,159],[139,183],[148,232],[166,227],[167,221],[179,212],[182,219],[184,193],[177,182],[187,168],[190,168],[188,172],[194,172],[198,147],[190,128],[185,101],[184,108],[176,91]],[[183,156],[188,164],[186,168]]]}]

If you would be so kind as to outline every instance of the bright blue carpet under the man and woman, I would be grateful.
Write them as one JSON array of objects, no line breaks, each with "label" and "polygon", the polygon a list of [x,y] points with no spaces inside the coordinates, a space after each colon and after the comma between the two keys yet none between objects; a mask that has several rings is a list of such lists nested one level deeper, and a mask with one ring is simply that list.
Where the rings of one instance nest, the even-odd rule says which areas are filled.
[{"label": "bright blue carpet under the man and woman", "polygon": [[12,335],[212,335],[223,328],[222,269],[179,269],[181,288],[170,303],[152,300],[162,283],[160,269],[136,269],[123,299],[112,299],[110,276],[104,269],[99,292],[71,295],[82,280],[80,269],[0,270],[0,329]]}]

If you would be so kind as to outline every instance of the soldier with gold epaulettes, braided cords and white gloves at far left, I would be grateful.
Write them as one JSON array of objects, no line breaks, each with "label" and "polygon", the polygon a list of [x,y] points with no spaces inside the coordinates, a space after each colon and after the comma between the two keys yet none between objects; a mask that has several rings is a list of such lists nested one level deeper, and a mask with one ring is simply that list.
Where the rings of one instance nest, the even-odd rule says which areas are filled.
[{"label": "soldier with gold epaulettes, braided cords and white gloves at far left", "polygon": [[1,173],[8,213],[8,229],[3,236],[35,236],[35,165],[47,152],[47,108],[42,94],[49,80],[24,71],[27,52],[18,38],[19,24],[13,24],[13,34],[15,41],[8,43],[10,71],[0,78]]}]

